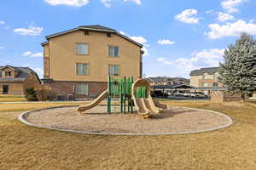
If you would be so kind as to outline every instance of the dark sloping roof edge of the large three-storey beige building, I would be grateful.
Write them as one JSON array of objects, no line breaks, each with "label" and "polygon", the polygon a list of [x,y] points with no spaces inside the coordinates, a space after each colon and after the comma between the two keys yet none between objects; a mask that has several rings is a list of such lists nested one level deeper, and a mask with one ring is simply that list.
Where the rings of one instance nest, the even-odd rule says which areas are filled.
[{"label": "dark sloping roof edge of the large three-storey beige building", "polygon": [[[67,30],[67,31],[61,31],[61,32],[57,32],[55,34],[51,34],[49,36],[46,36],[45,38],[47,40],[49,40],[49,38],[53,38],[53,37],[58,37],[58,36],[61,36],[61,35],[64,35],[64,34],[67,34],[67,33],[70,33],[70,32],[73,32],[73,31],[79,31],[79,30],[89,30],[89,31],[103,31],[103,32],[111,32],[111,33],[114,33],[120,37],[123,37],[125,38],[126,40],[132,42],[132,43],[135,43],[137,46],[139,46],[140,48],[143,48],[143,44],[139,43],[139,42],[136,42],[134,40],[132,40],[130,37],[126,37],[125,35],[119,33],[118,31],[112,31],[112,30],[102,30],[102,29],[95,29],[95,28],[89,28],[89,27],[86,27],[86,26],[79,26],[79,27],[76,27],[76,28],[73,28],[73,29],[70,29],[70,30]],[[41,45],[44,46],[45,42],[42,42]]]}]

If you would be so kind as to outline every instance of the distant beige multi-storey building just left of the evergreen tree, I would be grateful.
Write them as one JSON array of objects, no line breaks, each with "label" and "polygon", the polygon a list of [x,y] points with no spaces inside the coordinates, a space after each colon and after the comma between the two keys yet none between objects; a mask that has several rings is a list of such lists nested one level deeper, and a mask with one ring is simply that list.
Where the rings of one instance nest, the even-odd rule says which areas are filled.
[{"label": "distant beige multi-storey building just left of the evergreen tree", "polygon": [[218,67],[201,68],[190,72],[190,85],[195,88],[223,87],[218,82]]}]

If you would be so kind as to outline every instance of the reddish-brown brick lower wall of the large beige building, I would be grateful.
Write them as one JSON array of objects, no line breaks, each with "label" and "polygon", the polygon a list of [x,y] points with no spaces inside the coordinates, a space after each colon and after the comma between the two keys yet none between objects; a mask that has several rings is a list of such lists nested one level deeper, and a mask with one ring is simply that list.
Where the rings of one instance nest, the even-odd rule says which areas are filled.
[{"label": "reddish-brown brick lower wall of the large beige building", "polygon": [[44,87],[49,90],[49,94],[54,98],[61,94],[67,98],[68,94],[74,94],[75,98],[88,98],[88,95],[100,95],[108,88],[108,82],[86,82],[88,84],[88,95],[75,94],[75,84],[79,82],[54,81],[44,82]]}]

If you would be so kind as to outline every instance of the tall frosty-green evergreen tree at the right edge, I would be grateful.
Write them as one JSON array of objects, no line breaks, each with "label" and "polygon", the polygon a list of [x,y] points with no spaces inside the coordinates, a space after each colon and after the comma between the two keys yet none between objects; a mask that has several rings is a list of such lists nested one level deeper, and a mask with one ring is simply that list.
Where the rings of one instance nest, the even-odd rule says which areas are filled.
[{"label": "tall frosty-green evergreen tree at the right edge", "polygon": [[220,63],[219,82],[230,92],[246,96],[256,91],[256,41],[247,33],[224,51],[224,63]]}]

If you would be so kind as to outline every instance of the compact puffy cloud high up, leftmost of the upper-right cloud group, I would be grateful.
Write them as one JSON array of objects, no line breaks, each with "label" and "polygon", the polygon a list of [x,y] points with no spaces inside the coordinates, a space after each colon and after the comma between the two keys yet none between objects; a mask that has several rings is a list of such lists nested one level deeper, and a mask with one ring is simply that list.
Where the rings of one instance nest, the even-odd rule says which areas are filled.
[{"label": "compact puffy cloud high up, leftmost of the upper-right cloud group", "polygon": [[199,18],[196,17],[198,11],[194,8],[183,10],[181,14],[177,14],[175,18],[186,24],[197,24]]}]

